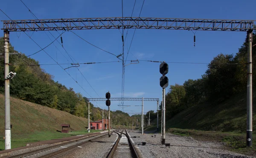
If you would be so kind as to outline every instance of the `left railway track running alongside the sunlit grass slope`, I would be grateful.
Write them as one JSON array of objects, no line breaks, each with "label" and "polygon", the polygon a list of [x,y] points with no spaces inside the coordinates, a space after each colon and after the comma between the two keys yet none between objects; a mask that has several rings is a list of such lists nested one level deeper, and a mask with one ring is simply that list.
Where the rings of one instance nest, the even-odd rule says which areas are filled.
[{"label": "left railway track running alongside the sunlit grass slope", "polygon": [[79,140],[70,141],[67,143],[58,144],[51,147],[46,147],[46,148],[34,150],[31,152],[26,152],[19,155],[9,156],[8,158],[61,158],[64,155],[67,155],[70,152],[73,152],[76,149],[79,149],[80,146],[88,143],[89,141],[99,139],[105,135],[108,135],[108,132],[103,134],[102,133],[94,134],[87,138],[81,138]]}]

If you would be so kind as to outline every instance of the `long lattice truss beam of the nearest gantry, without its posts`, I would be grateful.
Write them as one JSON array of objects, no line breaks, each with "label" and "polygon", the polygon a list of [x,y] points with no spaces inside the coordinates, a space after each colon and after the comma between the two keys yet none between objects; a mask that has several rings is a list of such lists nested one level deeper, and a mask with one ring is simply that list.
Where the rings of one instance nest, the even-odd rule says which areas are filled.
[{"label": "long lattice truss beam of the nearest gantry, without its posts", "polygon": [[102,17],[42,20],[2,20],[3,29],[51,31],[81,29],[176,29],[209,31],[248,31],[255,20],[180,19],[153,17]]}]

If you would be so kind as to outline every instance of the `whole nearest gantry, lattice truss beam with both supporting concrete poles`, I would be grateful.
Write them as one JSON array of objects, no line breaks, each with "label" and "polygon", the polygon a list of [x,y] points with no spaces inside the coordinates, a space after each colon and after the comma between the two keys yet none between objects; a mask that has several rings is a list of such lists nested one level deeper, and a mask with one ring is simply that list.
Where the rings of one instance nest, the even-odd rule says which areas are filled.
[{"label": "whole nearest gantry, lattice truss beam with both supporting concrete poles", "polygon": [[[39,20],[2,20],[5,46],[5,141],[11,148],[9,98],[9,32],[82,29],[174,29],[247,32],[247,146],[252,146],[252,35],[255,20],[214,20],[153,17],[102,17]],[[124,60],[123,60],[124,62]],[[124,65],[124,64],[123,64]],[[92,98],[93,99],[93,98]],[[94,98],[98,99],[99,98]],[[113,99],[113,98],[112,98]],[[146,98],[145,98],[146,99]],[[142,99],[142,103],[143,103]],[[143,107],[143,106],[142,106]],[[143,118],[142,118],[143,119]]]}]

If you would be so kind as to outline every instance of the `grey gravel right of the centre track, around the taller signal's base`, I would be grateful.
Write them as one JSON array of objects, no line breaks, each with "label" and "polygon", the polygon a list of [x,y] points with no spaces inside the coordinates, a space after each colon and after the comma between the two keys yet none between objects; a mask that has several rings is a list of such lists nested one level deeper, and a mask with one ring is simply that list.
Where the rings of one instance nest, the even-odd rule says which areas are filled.
[{"label": "grey gravel right of the centre track, around the taller signal's base", "polygon": [[[224,150],[218,142],[197,141],[192,137],[166,133],[166,143],[170,148],[161,144],[161,134],[144,134],[141,131],[130,131],[129,134],[137,144],[145,158],[256,158]],[[143,146],[142,142],[146,142]]]}]

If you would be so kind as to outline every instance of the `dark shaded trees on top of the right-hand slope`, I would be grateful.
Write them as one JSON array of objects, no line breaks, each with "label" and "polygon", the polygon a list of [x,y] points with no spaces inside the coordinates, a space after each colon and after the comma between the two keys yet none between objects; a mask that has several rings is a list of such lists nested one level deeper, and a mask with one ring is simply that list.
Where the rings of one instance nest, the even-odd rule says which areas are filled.
[{"label": "dark shaded trees on top of the right-hand slope", "polygon": [[[253,33],[253,45],[256,43],[255,33]],[[252,55],[253,63],[256,63],[256,46],[253,47]],[[256,74],[255,68],[253,64],[253,74]],[[201,78],[186,80],[183,85],[171,85],[166,95],[166,117],[173,118],[178,113],[202,102],[210,102],[211,106],[217,106],[231,96],[245,92],[246,85],[247,43],[245,41],[236,55],[221,53],[214,57]],[[256,75],[253,75],[253,88],[255,85]]]}]

